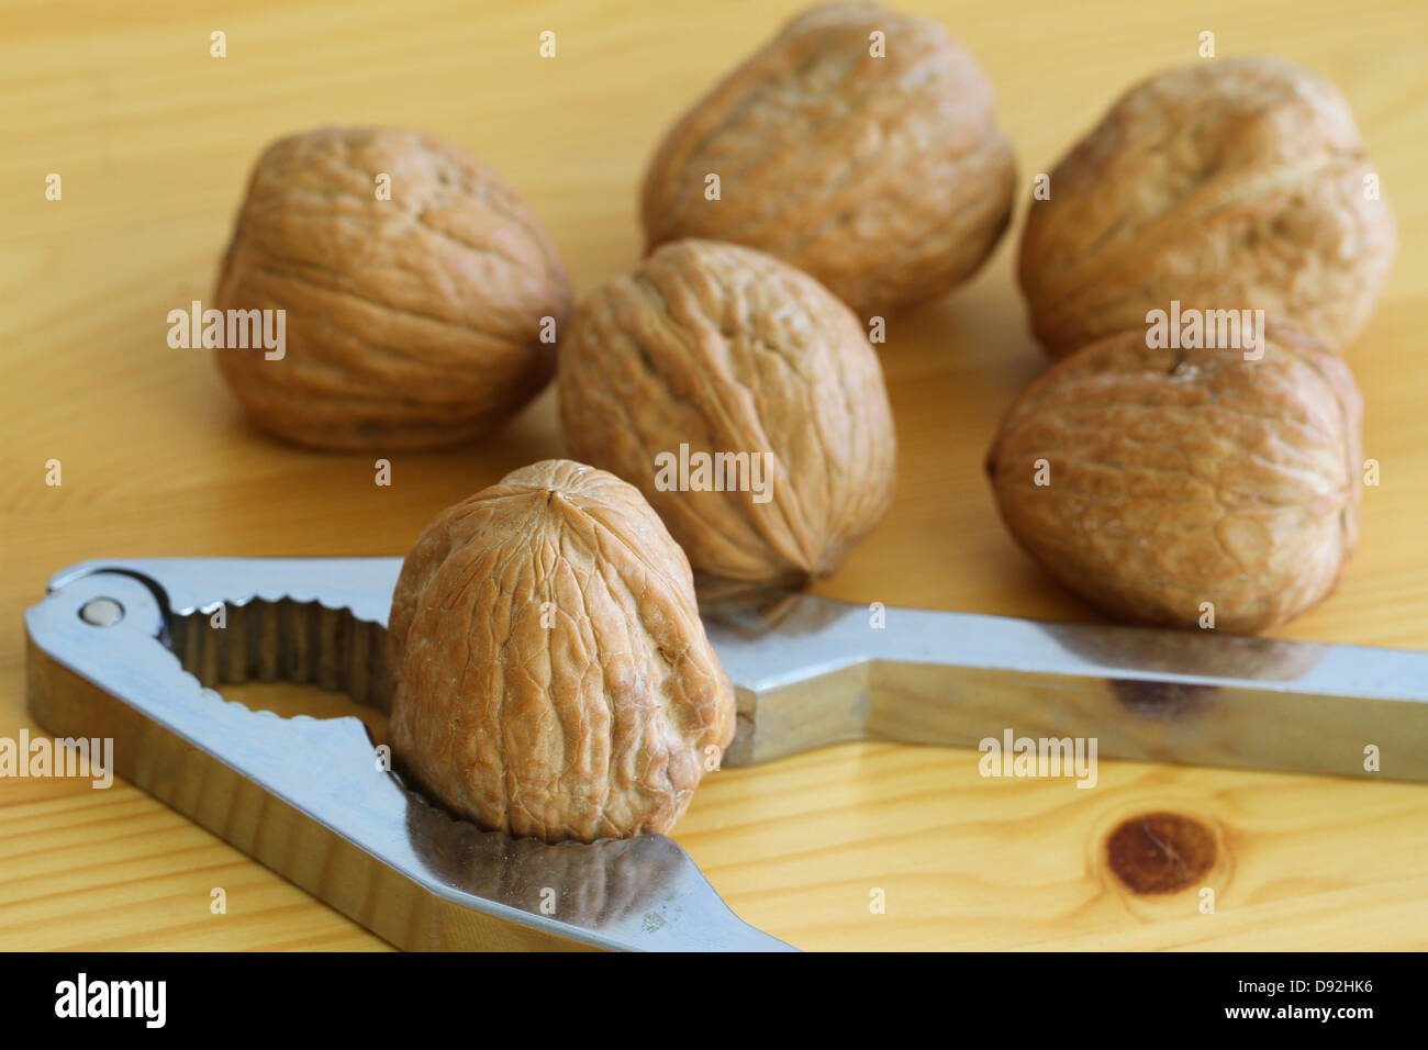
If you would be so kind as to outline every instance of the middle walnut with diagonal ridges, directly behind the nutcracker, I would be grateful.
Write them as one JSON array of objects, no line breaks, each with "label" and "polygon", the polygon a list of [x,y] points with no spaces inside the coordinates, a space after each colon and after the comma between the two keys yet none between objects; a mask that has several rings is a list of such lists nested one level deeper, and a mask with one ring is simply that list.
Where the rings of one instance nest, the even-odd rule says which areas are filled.
[{"label": "middle walnut with diagonal ridges, directly behind the nutcracker", "polygon": [[674,241],[597,289],[558,389],[571,454],[638,486],[710,576],[825,576],[892,499],[897,440],[863,326],[753,249]]}]

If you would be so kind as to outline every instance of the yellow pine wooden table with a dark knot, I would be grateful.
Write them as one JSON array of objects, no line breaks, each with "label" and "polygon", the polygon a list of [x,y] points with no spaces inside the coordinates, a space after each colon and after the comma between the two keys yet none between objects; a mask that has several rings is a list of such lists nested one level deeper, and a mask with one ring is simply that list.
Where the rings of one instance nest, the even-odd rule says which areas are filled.
[{"label": "yellow pine wooden table with a dark knot", "polygon": [[[1428,647],[1428,67],[1421,3],[918,1],[991,76],[1024,191],[970,286],[897,319],[883,350],[897,501],[823,593],[1087,620],[1000,526],[981,473],[998,414],[1047,367],[1012,281],[1031,177],[1134,80],[1272,51],[1351,100],[1402,247],[1351,349],[1368,406],[1364,539],[1284,637]],[[0,4],[0,736],[24,711],[21,610],[89,557],[401,553],[441,507],[561,453],[545,391],[496,437],[393,457],[250,429],[166,314],[207,300],[250,164],[326,121],[427,129],[483,156],[553,231],[578,290],[634,264],[635,194],[667,123],[791,3],[551,0]],[[537,57],[541,30],[557,57]],[[210,33],[227,57],[210,57]],[[63,199],[47,201],[60,173]],[[59,487],[46,461],[61,461]],[[341,701],[246,690],[317,713]],[[324,707],[324,704],[331,706]],[[705,781],[675,837],[748,921],[805,949],[1428,947],[1428,786],[1102,763],[1100,786],[982,779],[971,751],[841,746]],[[1218,899],[1130,893],[1121,819],[1214,830]],[[210,913],[224,887],[227,913]],[[885,914],[870,910],[874,887]],[[0,780],[0,949],[380,949],[383,943],[139,790]]]}]

